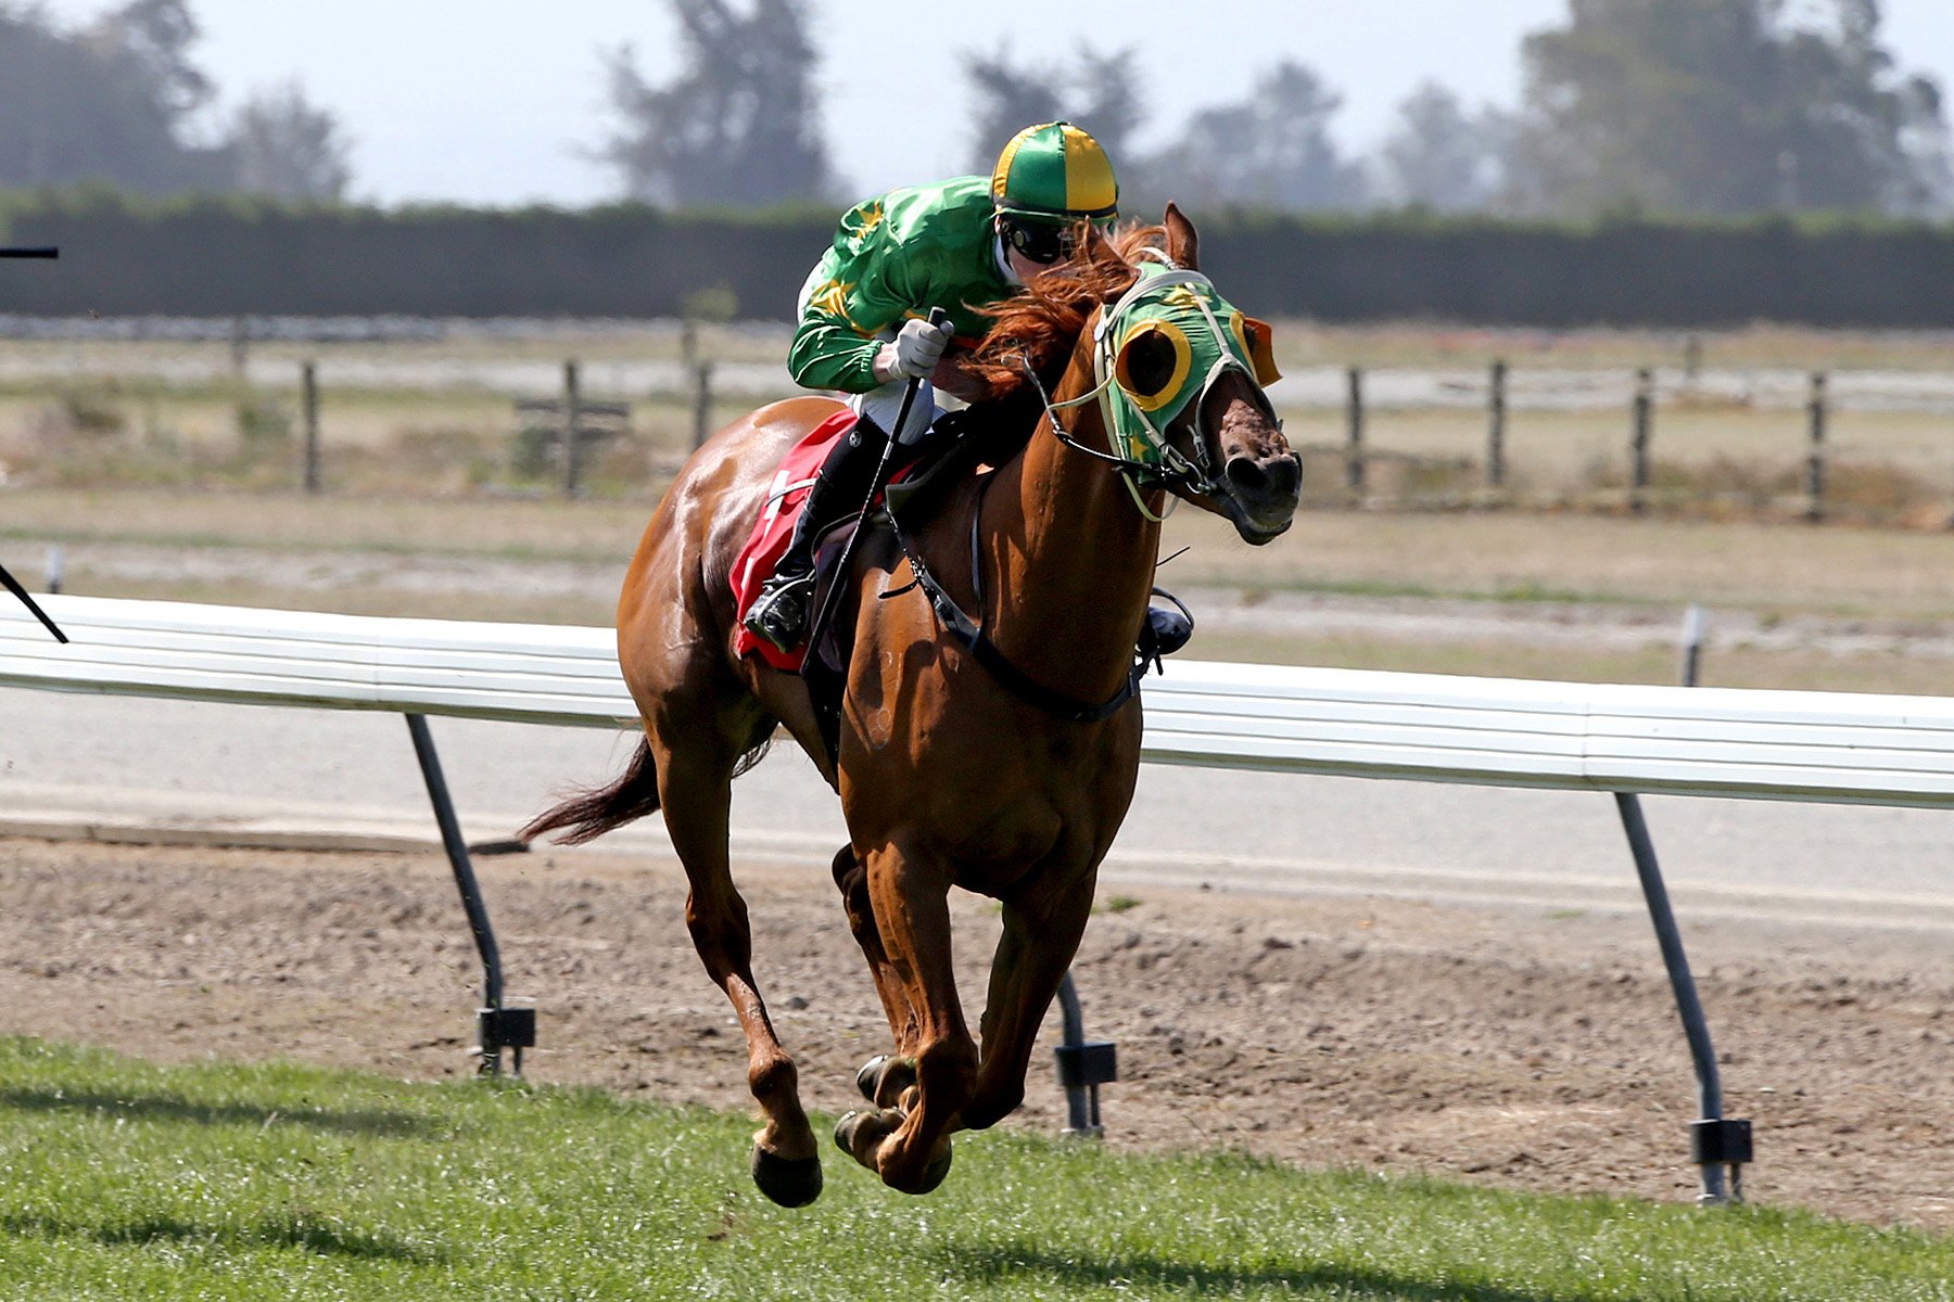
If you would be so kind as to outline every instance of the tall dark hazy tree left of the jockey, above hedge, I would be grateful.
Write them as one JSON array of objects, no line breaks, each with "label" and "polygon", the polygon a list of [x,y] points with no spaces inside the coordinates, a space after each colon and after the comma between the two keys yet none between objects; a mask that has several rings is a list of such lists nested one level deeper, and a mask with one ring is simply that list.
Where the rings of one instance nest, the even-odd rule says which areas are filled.
[{"label": "tall dark hazy tree left of the jockey, above hedge", "polygon": [[596,150],[625,195],[674,207],[819,199],[832,187],[815,129],[805,0],[670,0],[684,72],[651,86],[629,47],[610,57],[621,125]]}]

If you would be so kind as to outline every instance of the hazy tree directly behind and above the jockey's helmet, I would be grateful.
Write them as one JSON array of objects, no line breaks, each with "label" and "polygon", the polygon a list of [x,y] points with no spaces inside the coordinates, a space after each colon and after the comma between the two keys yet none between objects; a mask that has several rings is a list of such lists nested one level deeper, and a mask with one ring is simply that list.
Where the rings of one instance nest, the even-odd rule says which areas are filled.
[{"label": "hazy tree directly behind and above the jockey's helmet", "polygon": [[1012,64],[1010,51],[1002,47],[995,55],[965,55],[963,78],[975,98],[971,170],[991,172],[1010,137],[1063,119],[1090,131],[1124,178],[1133,131],[1141,123],[1133,76],[1131,51],[1079,51],[1071,72],[1063,64]]}]

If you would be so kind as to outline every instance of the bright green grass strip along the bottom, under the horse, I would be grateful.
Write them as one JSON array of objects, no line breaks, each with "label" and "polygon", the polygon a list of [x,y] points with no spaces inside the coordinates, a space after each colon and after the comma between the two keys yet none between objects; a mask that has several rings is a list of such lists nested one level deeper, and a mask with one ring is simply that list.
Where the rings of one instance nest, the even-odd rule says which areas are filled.
[{"label": "bright green grass strip along the bottom, under the horse", "polygon": [[926,1199],[598,1091],[0,1040],[0,1298],[1954,1298],[1954,1241],[967,1136]]}]

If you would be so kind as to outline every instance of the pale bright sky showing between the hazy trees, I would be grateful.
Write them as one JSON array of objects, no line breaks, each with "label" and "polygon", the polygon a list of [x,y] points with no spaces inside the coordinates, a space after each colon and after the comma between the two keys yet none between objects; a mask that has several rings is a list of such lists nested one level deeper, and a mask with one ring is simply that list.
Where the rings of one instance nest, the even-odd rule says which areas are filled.
[{"label": "pale bright sky showing between the hazy trees", "polygon": [[[1817,0],[1792,0],[1813,4]],[[119,0],[41,0],[80,23]],[[1954,92],[1950,0],[1886,0],[1901,68]],[[217,111],[297,80],[352,144],[354,197],[375,203],[557,203],[616,197],[588,158],[606,135],[604,55],[635,49],[653,82],[678,72],[664,0],[191,0],[191,51]],[[1567,0],[811,0],[825,137],[844,189],[877,193],[971,166],[961,57],[1071,64],[1131,51],[1147,92],[1141,144],[1190,113],[1241,102],[1280,59],[1344,98],[1333,125],[1370,152],[1424,80],[1512,105],[1520,39]],[[998,142],[1002,144],[1002,142]],[[1118,160],[1116,160],[1118,162]]]}]

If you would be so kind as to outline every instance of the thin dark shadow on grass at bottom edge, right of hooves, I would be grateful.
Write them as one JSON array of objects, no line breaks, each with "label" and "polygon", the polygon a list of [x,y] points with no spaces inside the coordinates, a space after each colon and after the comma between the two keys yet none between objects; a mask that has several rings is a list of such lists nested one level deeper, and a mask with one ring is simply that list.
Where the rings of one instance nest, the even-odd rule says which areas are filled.
[{"label": "thin dark shadow on grass at bottom edge, right of hooves", "polygon": [[1499,1284],[1452,1284],[1413,1279],[1389,1271],[1360,1271],[1319,1265],[1294,1271],[1264,1267],[1186,1265],[1163,1257],[1114,1257],[1077,1261],[1038,1247],[952,1247],[952,1267],[977,1281],[1008,1284],[1045,1279],[1069,1288],[1153,1288],[1192,1298],[1233,1298],[1251,1290],[1323,1290],[1338,1298],[1391,1298],[1391,1302],[1567,1302],[1565,1294],[1546,1294]]}]

